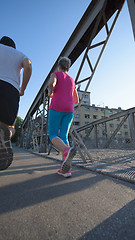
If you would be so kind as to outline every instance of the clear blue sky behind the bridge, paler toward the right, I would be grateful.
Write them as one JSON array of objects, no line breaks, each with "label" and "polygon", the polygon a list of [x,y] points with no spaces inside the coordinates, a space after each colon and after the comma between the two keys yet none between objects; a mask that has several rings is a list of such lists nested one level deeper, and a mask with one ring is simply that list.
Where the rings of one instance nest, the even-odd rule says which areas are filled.
[{"label": "clear blue sky behind the bridge, paler toward the right", "polygon": [[[14,39],[17,49],[32,61],[32,76],[21,97],[18,115],[25,118],[57,57],[86,11],[90,0],[0,0],[0,37]],[[111,24],[110,20],[109,24]],[[102,30],[97,40],[104,40]],[[96,40],[95,40],[96,42]],[[92,64],[98,49],[90,52]],[[82,56],[69,75],[75,78]],[[91,104],[128,109],[135,106],[135,41],[125,3],[89,87]],[[84,66],[80,77],[89,76]],[[81,85],[81,89],[85,84]]]}]

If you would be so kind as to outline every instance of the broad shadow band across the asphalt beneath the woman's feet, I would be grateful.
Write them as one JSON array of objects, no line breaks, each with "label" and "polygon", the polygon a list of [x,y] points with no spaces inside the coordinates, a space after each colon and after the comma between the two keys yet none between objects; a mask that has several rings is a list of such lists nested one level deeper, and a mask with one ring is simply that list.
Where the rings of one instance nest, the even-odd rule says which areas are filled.
[{"label": "broad shadow band across the asphalt beneath the woman's feet", "polygon": [[[85,177],[84,177],[85,175]],[[81,179],[81,177],[83,179]],[[79,180],[76,178],[80,178]],[[0,214],[33,206],[63,195],[90,188],[104,178],[87,170],[73,170],[73,177],[65,179],[56,173],[0,188]]]}]

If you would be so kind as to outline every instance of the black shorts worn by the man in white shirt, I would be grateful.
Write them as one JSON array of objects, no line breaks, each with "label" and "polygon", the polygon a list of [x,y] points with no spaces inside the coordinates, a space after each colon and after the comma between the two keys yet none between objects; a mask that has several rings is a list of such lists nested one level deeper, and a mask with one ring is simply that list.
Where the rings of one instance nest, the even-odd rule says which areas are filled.
[{"label": "black shorts worn by the man in white shirt", "polygon": [[19,108],[19,91],[10,83],[0,80],[0,122],[12,126]]}]

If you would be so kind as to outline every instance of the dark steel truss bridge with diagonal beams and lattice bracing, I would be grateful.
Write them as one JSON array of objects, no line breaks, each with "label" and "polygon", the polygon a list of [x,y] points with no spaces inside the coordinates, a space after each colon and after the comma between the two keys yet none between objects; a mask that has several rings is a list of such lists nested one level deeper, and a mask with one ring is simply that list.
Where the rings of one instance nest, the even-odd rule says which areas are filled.
[{"label": "dark steel truss bridge with diagonal beams and lattice bracing", "polygon": [[[135,37],[135,0],[127,0],[129,12],[131,16],[131,22],[133,27],[133,33]],[[34,151],[38,152],[47,152],[48,151],[48,109],[49,109],[49,97],[48,97],[48,82],[49,77],[52,72],[57,71],[57,63],[60,56],[67,56],[71,59],[73,65],[74,62],[79,58],[83,53],[83,58],[76,73],[75,83],[76,85],[85,82],[85,90],[80,100],[78,107],[76,108],[74,118],[82,104],[83,98],[85,96],[88,87],[90,86],[91,80],[95,74],[97,66],[100,62],[101,56],[104,52],[104,49],[107,45],[107,42],[110,38],[110,35],[113,31],[113,28],[117,22],[119,14],[122,10],[122,7],[125,3],[125,0],[92,0],[82,16],[77,27],[73,31],[71,37],[66,43],[64,49],[60,53],[58,59],[53,65],[51,71],[47,75],[41,89],[39,90],[36,98],[34,99],[30,109],[28,110],[26,117],[22,126],[22,136],[21,136],[21,145],[24,148],[34,148]],[[114,16],[113,22],[109,27],[108,21]],[[106,37],[103,40],[99,40],[96,43],[93,43],[95,37],[100,33],[102,29],[105,29]],[[90,59],[90,51],[99,47],[101,48],[96,63],[93,64]],[[87,78],[80,79],[81,71],[83,70],[84,63],[87,62],[90,75]],[[122,113],[112,115],[109,119],[102,119],[92,123],[89,123],[85,126],[82,126],[78,129],[75,129],[73,124],[70,130],[70,137],[74,145],[76,146],[78,153],[80,154],[83,161],[91,159],[91,156],[79,134],[79,132],[86,131],[86,137],[90,135],[92,129],[95,129],[95,142],[96,147],[98,147],[97,140],[97,126],[103,122],[107,122],[118,117],[121,117],[122,120],[118,127],[115,129],[114,133],[107,140],[105,147],[108,147],[121,126],[124,124],[126,119],[130,118],[130,129],[131,129],[131,138],[133,143],[135,143],[135,121],[134,121],[135,108],[128,109]],[[50,152],[50,151],[49,151]]]}]

